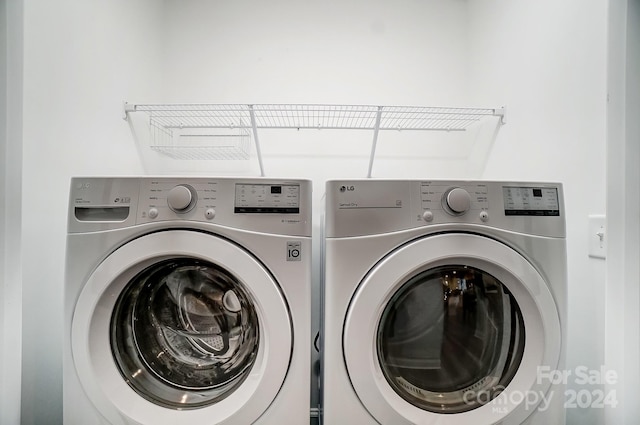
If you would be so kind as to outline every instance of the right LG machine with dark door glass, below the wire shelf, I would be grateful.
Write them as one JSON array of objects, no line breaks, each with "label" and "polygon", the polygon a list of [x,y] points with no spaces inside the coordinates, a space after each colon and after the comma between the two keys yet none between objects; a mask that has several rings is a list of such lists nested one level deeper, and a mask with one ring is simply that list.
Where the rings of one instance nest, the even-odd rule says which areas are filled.
[{"label": "right LG machine with dark door glass, below the wire shelf", "polygon": [[326,184],[326,425],[564,424],[561,184]]}]

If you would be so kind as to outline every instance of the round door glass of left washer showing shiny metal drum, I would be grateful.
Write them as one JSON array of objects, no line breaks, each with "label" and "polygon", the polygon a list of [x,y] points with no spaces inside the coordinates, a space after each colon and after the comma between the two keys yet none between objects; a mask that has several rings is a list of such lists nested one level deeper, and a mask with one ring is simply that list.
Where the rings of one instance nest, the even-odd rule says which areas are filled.
[{"label": "round door glass of left washer showing shiny metal drum", "polygon": [[259,347],[257,313],[238,279],[180,258],[138,273],[111,319],[111,348],[127,383],[161,406],[218,402],[242,384]]}]

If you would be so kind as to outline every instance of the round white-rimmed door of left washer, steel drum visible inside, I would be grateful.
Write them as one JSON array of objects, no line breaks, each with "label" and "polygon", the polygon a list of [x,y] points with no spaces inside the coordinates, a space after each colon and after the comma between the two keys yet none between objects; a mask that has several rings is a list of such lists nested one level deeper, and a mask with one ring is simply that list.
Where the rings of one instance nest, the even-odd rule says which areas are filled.
[{"label": "round white-rimmed door of left washer, steel drum visible inside", "polygon": [[277,282],[253,255],[202,232],[135,239],[89,276],[74,364],[109,423],[251,424],[278,394],[293,344]]}]

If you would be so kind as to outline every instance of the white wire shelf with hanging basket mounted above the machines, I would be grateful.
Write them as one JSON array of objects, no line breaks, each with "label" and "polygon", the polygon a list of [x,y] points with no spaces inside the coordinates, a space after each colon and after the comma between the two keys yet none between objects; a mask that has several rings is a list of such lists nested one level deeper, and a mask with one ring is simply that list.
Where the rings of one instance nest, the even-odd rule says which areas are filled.
[{"label": "white wire shelf with hanging basket mounted above the machines", "polygon": [[249,159],[255,143],[260,173],[261,129],[337,129],[372,132],[368,177],[380,131],[465,131],[487,117],[506,123],[505,108],[448,108],[328,104],[124,104],[124,118],[149,117],[151,149],[175,159]]}]

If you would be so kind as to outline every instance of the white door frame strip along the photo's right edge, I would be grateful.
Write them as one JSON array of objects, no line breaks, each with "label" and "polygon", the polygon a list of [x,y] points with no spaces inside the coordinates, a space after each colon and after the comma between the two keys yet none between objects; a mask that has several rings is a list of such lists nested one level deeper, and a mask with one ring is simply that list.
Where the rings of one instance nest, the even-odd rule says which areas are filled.
[{"label": "white door frame strip along the photo's right edge", "polygon": [[607,423],[637,423],[640,405],[640,1],[609,6],[606,360],[623,370]]}]

